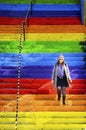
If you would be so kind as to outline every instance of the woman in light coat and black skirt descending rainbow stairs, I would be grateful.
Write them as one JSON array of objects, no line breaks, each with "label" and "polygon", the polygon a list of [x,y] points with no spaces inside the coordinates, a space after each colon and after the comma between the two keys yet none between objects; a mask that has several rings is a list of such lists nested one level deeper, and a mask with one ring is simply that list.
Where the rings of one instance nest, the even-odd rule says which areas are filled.
[{"label": "woman in light coat and black skirt descending rainbow stairs", "polygon": [[55,88],[57,89],[58,101],[60,101],[62,92],[62,103],[65,105],[66,88],[70,87],[72,79],[70,77],[68,65],[66,64],[64,56],[62,54],[59,56],[57,63],[54,65],[52,81]]}]

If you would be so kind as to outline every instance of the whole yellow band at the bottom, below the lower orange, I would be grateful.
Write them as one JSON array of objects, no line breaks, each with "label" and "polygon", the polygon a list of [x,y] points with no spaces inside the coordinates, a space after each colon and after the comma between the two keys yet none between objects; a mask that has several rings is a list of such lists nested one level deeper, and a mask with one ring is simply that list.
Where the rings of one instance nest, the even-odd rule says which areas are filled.
[{"label": "whole yellow band at the bottom, below the lower orange", "polygon": [[[15,115],[15,112],[0,112],[0,128],[9,130],[10,123],[10,129],[14,129]],[[86,112],[19,112],[18,115],[19,130],[81,130],[86,127]]]}]

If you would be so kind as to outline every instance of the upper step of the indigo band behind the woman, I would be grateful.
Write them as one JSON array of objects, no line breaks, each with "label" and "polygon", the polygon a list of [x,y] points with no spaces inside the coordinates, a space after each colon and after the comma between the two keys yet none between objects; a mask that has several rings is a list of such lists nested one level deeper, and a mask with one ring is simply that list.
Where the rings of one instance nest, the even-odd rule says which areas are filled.
[{"label": "upper step of the indigo band behind the woman", "polygon": [[[41,67],[43,68],[43,67]],[[41,69],[41,68],[38,68],[38,69],[34,69],[34,67],[28,67],[28,69],[21,69],[21,74],[22,75],[25,75],[25,74],[51,74],[52,72],[52,69],[50,69],[50,67],[48,67],[47,69]],[[70,72],[71,74],[86,74],[86,69],[72,69],[70,67]],[[0,75],[10,75],[10,74],[17,74],[18,73],[18,69],[0,69]]]}]

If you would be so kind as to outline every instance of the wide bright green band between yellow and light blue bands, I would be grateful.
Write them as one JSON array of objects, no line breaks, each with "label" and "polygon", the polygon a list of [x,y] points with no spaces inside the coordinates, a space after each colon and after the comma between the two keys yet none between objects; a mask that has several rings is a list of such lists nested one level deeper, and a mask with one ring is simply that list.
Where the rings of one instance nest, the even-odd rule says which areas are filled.
[{"label": "wide bright green band between yellow and light blue bands", "polygon": [[[0,41],[0,53],[18,52],[18,41]],[[78,41],[25,41],[23,43],[23,53],[32,52],[83,52],[83,47]]]}]

